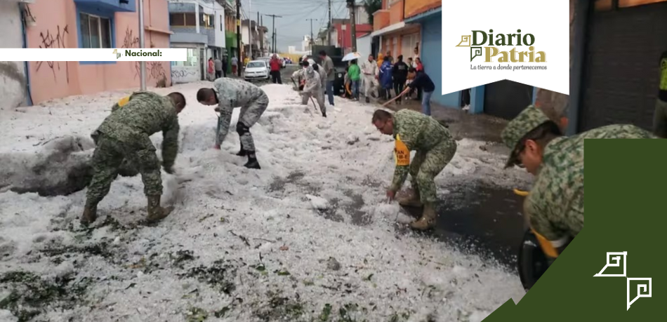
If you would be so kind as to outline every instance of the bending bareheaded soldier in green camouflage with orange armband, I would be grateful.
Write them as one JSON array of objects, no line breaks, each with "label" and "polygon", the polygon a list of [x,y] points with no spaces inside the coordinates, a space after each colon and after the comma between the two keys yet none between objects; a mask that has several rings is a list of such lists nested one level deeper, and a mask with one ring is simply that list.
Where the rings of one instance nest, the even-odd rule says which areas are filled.
[{"label": "bending bareheaded soldier in green camouflage with orange armband", "polygon": [[[394,199],[410,173],[414,194],[399,200],[399,204],[423,206],[421,217],[410,226],[418,230],[432,228],[436,217],[434,180],[454,157],[456,141],[438,121],[409,109],[402,109],[393,115],[378,109],[373,114],[373,124],[381,133],[393,135],[396,140],[396,168],[387,196]],[[416,151],[412,164],[410,151]]]}]

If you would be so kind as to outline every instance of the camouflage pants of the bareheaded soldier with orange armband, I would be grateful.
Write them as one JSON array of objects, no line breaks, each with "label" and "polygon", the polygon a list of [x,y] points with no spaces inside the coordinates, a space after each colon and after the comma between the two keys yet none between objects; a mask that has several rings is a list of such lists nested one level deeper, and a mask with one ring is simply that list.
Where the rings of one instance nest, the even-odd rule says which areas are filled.
[{"label": "camouflage pants of the bareheaded soldier with orange armband", "polygon": [[419,191],[422,203],[435,202],[435,177],[454,158],[456,141],[444,140],[432,149],[417,151],[410,165],[412,186]]}]

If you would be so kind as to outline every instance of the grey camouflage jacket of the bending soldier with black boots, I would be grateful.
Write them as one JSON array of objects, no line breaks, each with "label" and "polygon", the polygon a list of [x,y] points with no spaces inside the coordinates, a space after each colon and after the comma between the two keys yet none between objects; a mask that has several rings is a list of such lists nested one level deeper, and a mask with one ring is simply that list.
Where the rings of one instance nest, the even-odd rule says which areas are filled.
[{"label": "grey camouflage jacket of the bending soldier with black boots", "polygon": [[229,133],[232,112],[234,112],[235,107],[242,107],[242,114],[244,114],[247,112],[244,108],[247,109],[251,102],[266,94],[261,88],[252,83],[226,77],[216,79],[213,82],[213,91],[216,92],[218,109],[220,109],[216,145],[221,145],[227,137],[227,133]]}]

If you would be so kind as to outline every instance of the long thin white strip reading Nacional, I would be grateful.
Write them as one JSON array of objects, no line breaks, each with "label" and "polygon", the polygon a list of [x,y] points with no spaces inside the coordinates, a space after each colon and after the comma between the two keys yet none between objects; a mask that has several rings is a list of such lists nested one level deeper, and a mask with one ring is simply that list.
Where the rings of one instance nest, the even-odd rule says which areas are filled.
[{"label": "long thin white strip reading Nacional", "polygon": [[0,48],[5,62],[184,62],[187,48]]}]

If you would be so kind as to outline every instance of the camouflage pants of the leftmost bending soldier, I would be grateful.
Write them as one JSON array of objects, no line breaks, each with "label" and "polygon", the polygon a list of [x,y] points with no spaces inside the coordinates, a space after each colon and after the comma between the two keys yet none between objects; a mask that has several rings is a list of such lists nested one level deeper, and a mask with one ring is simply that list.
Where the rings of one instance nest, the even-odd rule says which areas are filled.
[{"label": "camouflage pants of the leftmost bending soldier", "polygon": [[146,196],[162,194],[159,160],[150,137],[143,135],[143,138],[136,142],[126,143],[101,134],[93,153],[93,179],[88,185],[86,204],[96,205],[104,199],[124,159],[136,165],[141,173]]}]

